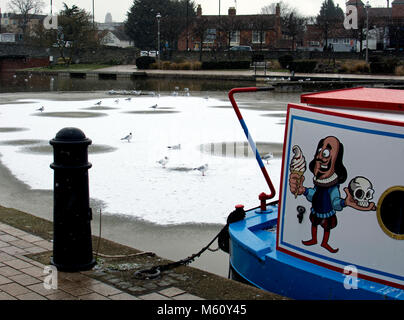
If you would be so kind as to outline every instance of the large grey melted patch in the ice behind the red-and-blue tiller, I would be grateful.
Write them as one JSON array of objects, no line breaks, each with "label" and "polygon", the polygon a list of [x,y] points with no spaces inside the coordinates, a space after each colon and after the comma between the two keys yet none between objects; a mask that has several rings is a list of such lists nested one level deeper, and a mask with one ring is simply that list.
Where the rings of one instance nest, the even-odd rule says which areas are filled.
[{"label": "large grey melted patch in the ice behind the red-and-blue tiller", "polygon": [[[258,152],[261,156],[266,153],[272,153],[274,158],[280,158],[283,152],[283,143],[277,142],[256,142]],[[247,141],[233,141],[233,142],[216,142],[206,143],[199,146],[202,153],[210,154],[212,156],[231,157],[231,158],[254,158],[255,154],[252,152],[250,145]]]}]

